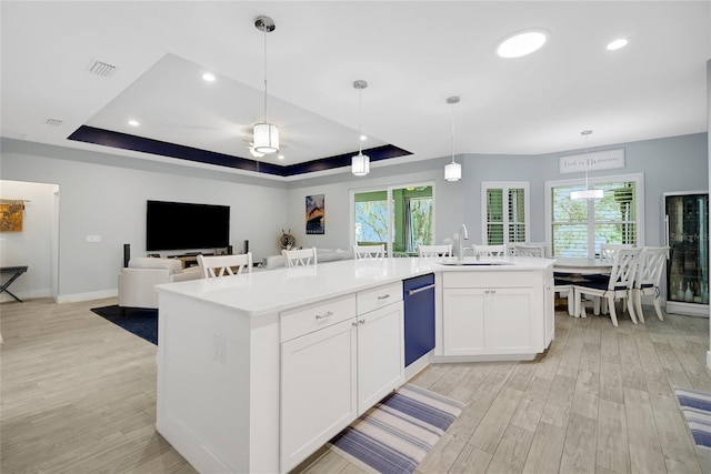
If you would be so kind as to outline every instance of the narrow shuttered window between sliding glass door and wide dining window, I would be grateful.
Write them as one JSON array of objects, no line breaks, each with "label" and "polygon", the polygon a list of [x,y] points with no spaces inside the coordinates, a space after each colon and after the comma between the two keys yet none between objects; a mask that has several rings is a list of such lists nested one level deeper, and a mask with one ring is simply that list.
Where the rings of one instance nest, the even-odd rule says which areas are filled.
[{"label": "narrow shuttered window between sliding glass door and wide dining window", "polygon": [[529,183],[484,182],[482,190],[482,241],[487,245],[527,242]]}]

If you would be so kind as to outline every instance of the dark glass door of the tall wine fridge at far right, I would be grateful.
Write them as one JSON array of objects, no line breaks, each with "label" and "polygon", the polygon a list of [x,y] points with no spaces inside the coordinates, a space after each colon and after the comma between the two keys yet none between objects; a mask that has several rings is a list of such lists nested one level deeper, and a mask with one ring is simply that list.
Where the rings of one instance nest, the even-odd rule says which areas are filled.
[{"label": "dark glass door of the tall wine fridge at far right", "polygon": [[709,316],[709,194],[665,193],[667,312]]}]

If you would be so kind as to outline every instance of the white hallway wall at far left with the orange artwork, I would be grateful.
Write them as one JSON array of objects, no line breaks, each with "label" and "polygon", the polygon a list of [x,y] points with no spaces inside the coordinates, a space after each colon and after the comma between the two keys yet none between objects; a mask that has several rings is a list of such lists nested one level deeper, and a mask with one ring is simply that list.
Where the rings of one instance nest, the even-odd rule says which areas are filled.
[{"label": "white hallway wall at far left with the orange artwork", "polygon": [[[22,232],[0,233],[0,266],[28,266],[8,289],[22,300],[52,296],[56,278],[52,215],[58,191],[57,184],[0,181],[0,199],[26,201]],[[4,274],[3,282],[10,276]],[[2,293],[0,301],[14,300]]]}]

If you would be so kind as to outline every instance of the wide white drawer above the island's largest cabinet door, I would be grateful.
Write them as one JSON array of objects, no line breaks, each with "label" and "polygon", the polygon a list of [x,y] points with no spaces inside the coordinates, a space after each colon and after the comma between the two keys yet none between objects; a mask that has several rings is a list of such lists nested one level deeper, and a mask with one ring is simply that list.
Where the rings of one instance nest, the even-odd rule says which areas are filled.
[{"label": "wide white drawer above the island's largest cabinet door", "polygon": [[356,317],[356,296],[339,297],[281,313],[281,342]]}]

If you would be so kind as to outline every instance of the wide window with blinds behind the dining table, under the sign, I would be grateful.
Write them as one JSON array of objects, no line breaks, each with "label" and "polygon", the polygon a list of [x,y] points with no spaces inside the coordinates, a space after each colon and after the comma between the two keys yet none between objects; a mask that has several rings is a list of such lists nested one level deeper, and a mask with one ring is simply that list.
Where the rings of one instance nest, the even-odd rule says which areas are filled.
[{"label": "wide window with blinds behind the dining table, under the sign", "polygon": [[643,175],[630,174],[590,179],[590,185],[604,191],[600,200],[573,201],[571,191],[584,189],[581,182],[545,183],[547,228],[553,256],[594,258],[600,244],[644,244]]}]

